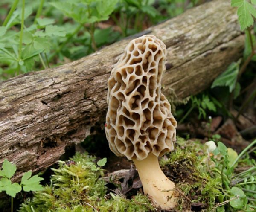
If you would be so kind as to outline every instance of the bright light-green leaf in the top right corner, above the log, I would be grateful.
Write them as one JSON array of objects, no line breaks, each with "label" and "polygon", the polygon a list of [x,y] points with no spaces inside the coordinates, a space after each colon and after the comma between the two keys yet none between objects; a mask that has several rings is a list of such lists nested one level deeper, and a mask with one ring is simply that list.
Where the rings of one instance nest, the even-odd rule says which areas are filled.
[{"label": "bright light-green leaf in the top right corner, above the log", "polygon": [[241,30],[253,25],[256,9],[247,0],[231,0],[231,6],[238,7],[237,15]]}]

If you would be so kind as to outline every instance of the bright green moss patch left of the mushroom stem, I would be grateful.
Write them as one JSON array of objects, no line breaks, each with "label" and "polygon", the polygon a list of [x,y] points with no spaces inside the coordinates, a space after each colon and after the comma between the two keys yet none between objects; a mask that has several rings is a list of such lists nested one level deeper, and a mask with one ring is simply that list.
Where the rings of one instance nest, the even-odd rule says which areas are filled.
[{"label": "bright green moss patch left of the mushroom stem", "polygon": [[150,201],[143,195],[131,200],[112,193],[107,194],[105,182],[100,180],[102,169],[87,154],[76,154],[75,165],[53,169],[51,184],[26,200],[20,212],[150,212]]}]

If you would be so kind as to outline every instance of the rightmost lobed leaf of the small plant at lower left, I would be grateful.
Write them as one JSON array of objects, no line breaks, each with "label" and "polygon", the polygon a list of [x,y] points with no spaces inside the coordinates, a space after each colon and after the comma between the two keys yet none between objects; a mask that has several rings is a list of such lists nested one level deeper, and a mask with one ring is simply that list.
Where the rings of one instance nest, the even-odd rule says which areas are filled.
[{"label": "rightmost lobed leaf of the small plant at lower left", "polygon": [[31,175],[32,171],[28,171],[22,176],[21,185],[23,186],[23,190],[25,192],[35,192],[43,190],[42,185],[40,185],[40,181],[44,180],[44,178],[38,177],[37,174],[33,177],[31,177]]}]

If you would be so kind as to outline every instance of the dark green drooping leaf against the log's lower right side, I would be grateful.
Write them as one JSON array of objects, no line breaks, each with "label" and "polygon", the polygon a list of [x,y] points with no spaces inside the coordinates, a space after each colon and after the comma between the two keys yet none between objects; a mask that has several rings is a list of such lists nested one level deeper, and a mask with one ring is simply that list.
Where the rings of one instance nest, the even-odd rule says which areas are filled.
[{"label": "dark green drooping leaf against the log's lower right side", "polygon": [[234,90],[236,86],[236,78],[239,73],[239,65],[241,60],[238,62],[233,62],[227,67],[227,70],[221,73],[212,83],[211,88],[217,86],[228,86],[230,93]]}]

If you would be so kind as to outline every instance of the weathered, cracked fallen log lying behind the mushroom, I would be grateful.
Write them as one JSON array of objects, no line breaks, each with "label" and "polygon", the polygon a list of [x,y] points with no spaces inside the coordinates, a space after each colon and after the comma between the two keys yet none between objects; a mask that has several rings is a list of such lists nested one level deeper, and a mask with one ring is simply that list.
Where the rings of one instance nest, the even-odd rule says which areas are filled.
[{"label": "weathered, cracked fallen log lying behind the mushroom", "polygon": [[[140,33],[167,46],[163,91],[183,99],[209,87],[242,55],[244,35],[229,0],[189,9]],[[23,171],[39,171],[82,141],[94,125],[104,127],[107,79],[128,42],[107,46],[60,67],[11,78],[0,85],[0,164],[8,158]]]}]

